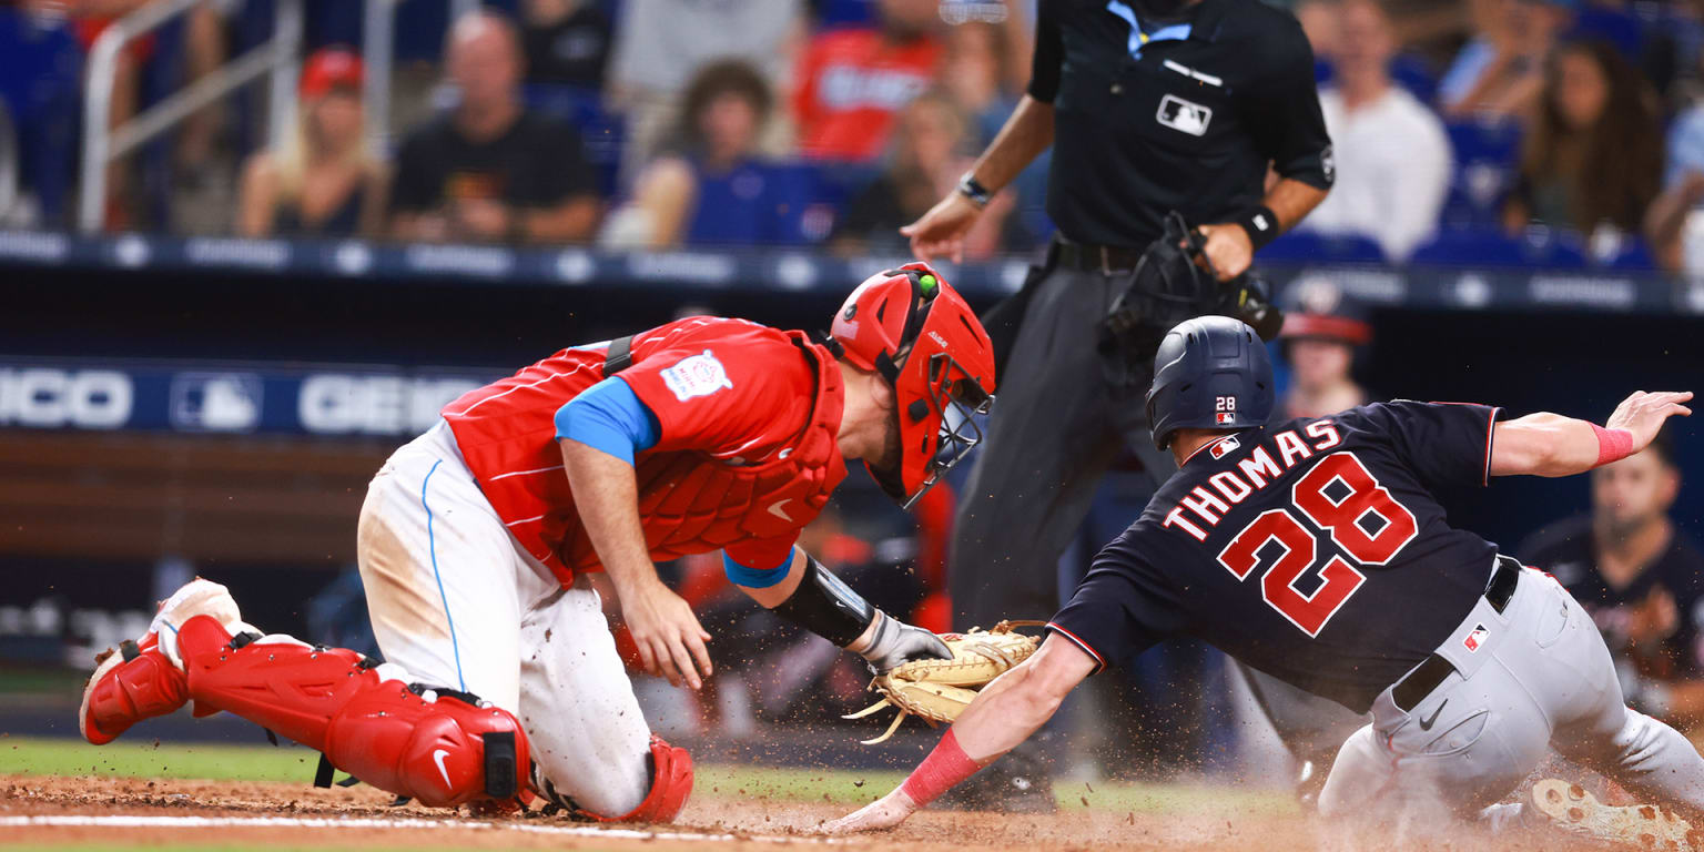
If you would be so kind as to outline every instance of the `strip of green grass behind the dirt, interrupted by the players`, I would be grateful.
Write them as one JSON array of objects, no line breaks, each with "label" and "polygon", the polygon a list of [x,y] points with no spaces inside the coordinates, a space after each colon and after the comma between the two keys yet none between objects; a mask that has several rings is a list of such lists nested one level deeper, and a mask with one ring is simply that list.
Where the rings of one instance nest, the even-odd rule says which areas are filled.
[{"label": "strip of green grass behind the dirt, interrupted by the players", "polygon": [[[0,736],[0,774],[7,775],[118,775],[143,779],[208,779],[295,782],[314,779],[319,755],[295,745],[273,748],[130,743],[92,746],[78,740],[34,740]],[[893,770],[772,769],[734,763],[700,763],[694,794],[714,799],[760,797],[770,801],[809,801],[864,804],[893,789],[903,779]],[[1082,784],[1055,786],[1060,804],[1068,809],[1177,813],[1206,808],[1244,815],[1281,815],[1295,809],[1285,792],[1239,791],[1200,784]],[[218,847],[206,847],[218,849]],[[315,849],[315,852],[329,852]],[[363,852],[371,852],[365,850]]]}]

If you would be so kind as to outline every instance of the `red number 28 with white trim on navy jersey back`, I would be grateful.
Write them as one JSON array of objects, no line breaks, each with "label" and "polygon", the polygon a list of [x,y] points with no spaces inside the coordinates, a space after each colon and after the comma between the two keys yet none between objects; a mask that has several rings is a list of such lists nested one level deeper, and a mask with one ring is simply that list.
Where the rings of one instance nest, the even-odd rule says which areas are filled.
[{"label": "red number 28 with white trim on navy jersey back", "polygon": [[[1315,567],[1321,532],[1361,566],[1382,566],[1414,540],[1419,527],[1414,513],[1397,503],[1355,453],[1319,460],[1297,481],[1290,501],[1295,511],[1268,509],[1249,521],[1220,550],[1218,564],[1237,579],[1247,579],[1261,566],[1261,554],[1278,544],[1283,552],[1261,574],[1261,598],[1307,636],[1319,636],[1367,581],[1367,574],[1333,552],[1319,567],[1319,584],[1312,593],[1295,588],[1295,581]],[[1312,527],[1297,518],[1297,511]]]}]

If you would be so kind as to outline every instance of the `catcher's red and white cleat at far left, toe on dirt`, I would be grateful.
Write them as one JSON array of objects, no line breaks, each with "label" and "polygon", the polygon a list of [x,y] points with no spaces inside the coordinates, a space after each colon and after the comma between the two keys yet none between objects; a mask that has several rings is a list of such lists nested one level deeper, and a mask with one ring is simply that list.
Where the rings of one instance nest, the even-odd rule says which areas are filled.
[{"label": "catcher's red and white cleat at far left, toe on dirt", "polygon": [[227,624],[240,620],[237,602],[225,586],[196,578],[160,602],[153,624],[140,641],[119,642],[116,649],[95,656],[95,671],[77,711],[77,729],[83,740],[111,743],[130,726],[184,705],[189,682],[179,661],[172,659],[176,642],[170,649],[162,648],[160,630],[176,636],[177,625],[194,615],[211,615]]}]

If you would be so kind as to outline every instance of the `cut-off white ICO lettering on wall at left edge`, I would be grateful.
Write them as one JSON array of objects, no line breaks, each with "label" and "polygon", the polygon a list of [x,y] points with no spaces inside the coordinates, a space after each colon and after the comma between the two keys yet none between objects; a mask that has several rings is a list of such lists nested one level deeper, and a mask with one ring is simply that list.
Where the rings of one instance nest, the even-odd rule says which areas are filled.
[{"label": "cut-off white ICO lettering on wall at left edge", "polygon": [[112,370],[0,368],[0,426],[116,429],[135,390]]}]

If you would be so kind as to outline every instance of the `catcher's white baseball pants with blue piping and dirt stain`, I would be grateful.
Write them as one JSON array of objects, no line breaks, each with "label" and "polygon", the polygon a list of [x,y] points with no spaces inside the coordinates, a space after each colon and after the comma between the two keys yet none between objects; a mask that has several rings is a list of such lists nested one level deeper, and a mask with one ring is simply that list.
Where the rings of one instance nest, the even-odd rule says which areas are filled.
[{"label": "catcher's white baseball pants with blue piping and dirt stain", "polygon": [[651,731],[598,593],[562,588],[479,491],[438,421],[378,470],[361,506],[361,581],[389,663],[520,717],[538,774],[620,816],[651,787]]}]

